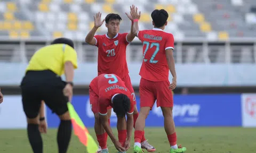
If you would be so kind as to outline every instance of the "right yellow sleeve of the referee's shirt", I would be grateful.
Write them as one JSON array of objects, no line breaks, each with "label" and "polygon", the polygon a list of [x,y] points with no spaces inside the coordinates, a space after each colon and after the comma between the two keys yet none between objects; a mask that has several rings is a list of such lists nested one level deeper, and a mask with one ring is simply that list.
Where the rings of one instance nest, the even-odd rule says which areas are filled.
[{"label": "right yellow sleeve of the referee's shirt", "polygon": [[77,54],[76,50],[69,45],[63,45],[64,58],[63,63],[71,62],[74,66],[74,69],[77,69]]}]

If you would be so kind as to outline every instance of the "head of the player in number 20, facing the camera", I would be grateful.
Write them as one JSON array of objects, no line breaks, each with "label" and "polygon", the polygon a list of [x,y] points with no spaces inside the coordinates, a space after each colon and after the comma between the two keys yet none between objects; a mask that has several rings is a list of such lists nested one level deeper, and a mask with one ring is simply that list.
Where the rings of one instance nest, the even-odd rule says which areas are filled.
[{"label": "head of the player in number 20, facing the camera", "polygon": [[115,13],[110,13],[106,16],[106,27],[108,28],[108,33],[111,33],[111,35],[116,35],[119,31],[119,25],[122,18],[120,15]]}]

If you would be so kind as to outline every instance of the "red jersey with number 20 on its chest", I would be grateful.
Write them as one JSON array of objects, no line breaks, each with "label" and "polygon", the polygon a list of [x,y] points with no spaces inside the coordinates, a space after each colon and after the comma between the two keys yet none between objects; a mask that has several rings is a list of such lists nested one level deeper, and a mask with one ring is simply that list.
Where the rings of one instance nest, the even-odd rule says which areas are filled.
[{"label": "red jersey with number 20 on its chest", "polygon": [[98,47],[98,75],[116,74],[124,78],[129,73],[126,62],[126,46],[128,33],[117,33],[111,39],[108,35],[94,36]]}]

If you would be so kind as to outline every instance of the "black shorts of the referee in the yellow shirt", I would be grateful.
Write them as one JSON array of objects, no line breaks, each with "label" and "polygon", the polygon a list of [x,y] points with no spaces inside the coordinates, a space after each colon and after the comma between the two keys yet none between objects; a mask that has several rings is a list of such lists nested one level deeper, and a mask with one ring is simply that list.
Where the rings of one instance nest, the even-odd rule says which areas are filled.
[{"label": "black shorts of the referee in the yellow shirt", "polygon": [[23,110],[28,118],[35,118],[41,107],[41,101],[57,115],[68,111],[68,97],[63,95],[66,82],[50,70],[28,71],[22,79],[20,88]]}]

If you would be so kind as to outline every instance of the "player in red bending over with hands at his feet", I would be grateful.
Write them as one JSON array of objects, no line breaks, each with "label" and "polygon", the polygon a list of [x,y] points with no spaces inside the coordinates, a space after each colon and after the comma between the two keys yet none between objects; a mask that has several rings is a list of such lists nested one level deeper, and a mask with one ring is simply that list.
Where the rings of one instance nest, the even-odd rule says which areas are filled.
[{"label": "player in red bending over with hands at his feet", "polygon": [[[89,86],[90,104],[95,116],[94,130],[99,141],[101,152],[107,153],[105,130],[119,152],[130,148],[133,130],[133,97],[121,78],[115,74],[100,74],[94,78]],[[108,123],[108,107],[111,106],[117,115],[118,140],[116,140]],[[127,116],[127,123],[125,119]],[[126,139],[127,135],[127,139]]]}]

